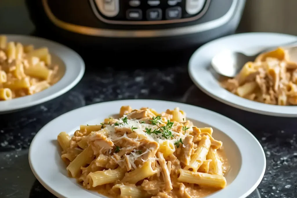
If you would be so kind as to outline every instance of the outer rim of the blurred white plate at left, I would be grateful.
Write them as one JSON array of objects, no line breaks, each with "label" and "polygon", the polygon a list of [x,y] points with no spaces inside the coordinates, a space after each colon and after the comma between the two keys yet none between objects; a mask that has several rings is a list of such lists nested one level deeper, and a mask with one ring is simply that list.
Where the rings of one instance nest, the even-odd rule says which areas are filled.
[{"label": "outer rim of the blurred white plate at left", "polygon": [[[67,60],[67,59],[70,60],[69,58],[75,57],[75,61],[77,62],[78,69],[76,70],[77,74],[75,76],[72,75],[72,76],[69,76],[67,79],[65,79],[65,76],[68,76],[70,74],[69,70],[73,69],[73,67],[64,62],[65,73],[62,76],[62,78],[57,83],[53,84],[48,89],[44,90],[49,93],[47,93],[45,95],[44,91],[41,91],[39,93],[32,94],[32,95],[27,95],[27,96],[15,98],[15,99],[7,100],[7,101],[5,101],[5,100],[0,101],[0,107],[1,107],[0,114],[15,112],[15,111],[23,110],[25,108],[32,107],[32,106],[35,106],[35,105],[38,105],[38,104],[41,104],[44,102],[48,102],[52,99],[55,99],[56,97],[59,97],[59,96],[65,94],[67,91],[72,89],[75,85],[77,85],[80,82],[80,80],[82,79],[82,77],[85,73],[85,62],[83,61],[83,58],[75,50],[72,50],[70,47],[63,45],[61,43],[52,41],[50,39],[42,38],[42,37],[21,35],[21,34],[4,34],[4,35],[7,37],[8,40],[12,40],[12,39],[13,40],[18,40],[18,39],[34,40],[35,42],[40,42],[41,43],[40,45],[44,45],[44,47],[48,47],[49,50],[51,50],[50,48],[52,48],[52,47],[58,47],[60,49],[63,49],[63,51],[65,53],[69,53],[71,55],[71,57],[61,56],[61,54],[57,54],[55,52],[53,52],[53,53],[59,59],[61,59],[61,61],[63,61],[63,62],[64,62],[64,60]],[[12,38],[12,39],[10,39],[10,38]],[[42,44],[42,43],[48,43],[53,46],[49,47],[47,44]],[[71,80],[70,80],[70,78],[71,78]],[[69,81],[71,81],[71,83],[69,83]],[[61,84],[61,83],[63,83],[63,84]],[[60,86],[60,88],[58,88],[57,86]],[[53,87],[56,89],[56,91],[53,91]],[[44,95],[44,96],[41,96],[41,95]],[[36,98],[36,99],[34,99],[34,98]],[[25,100],[27,102],[24,102]]]}]

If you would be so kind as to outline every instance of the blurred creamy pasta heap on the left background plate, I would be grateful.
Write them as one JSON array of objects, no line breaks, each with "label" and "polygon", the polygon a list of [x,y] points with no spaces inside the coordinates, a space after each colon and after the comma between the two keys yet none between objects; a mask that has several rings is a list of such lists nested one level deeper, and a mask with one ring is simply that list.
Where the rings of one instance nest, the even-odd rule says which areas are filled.
[{"label": "blurred creamy pasta heap on the left background plate", "polygon": [[35,94],[52,85],[58,66],[47,47],[34,49],[0,35],[0,101]]}]

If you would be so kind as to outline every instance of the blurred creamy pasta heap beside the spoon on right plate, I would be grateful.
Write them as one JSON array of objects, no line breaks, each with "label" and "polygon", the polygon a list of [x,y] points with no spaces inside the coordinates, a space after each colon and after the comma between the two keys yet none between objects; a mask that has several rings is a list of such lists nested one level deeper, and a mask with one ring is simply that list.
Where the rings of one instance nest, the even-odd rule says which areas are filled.
[{"label": "blurred creamy pasta heap beside the spoon on right plate", "polygon": [[240,97],[277,105],[297,105],[297,63],[287,50],[277,48],[247,62],[240,73],[222,82],[228,91]]}]

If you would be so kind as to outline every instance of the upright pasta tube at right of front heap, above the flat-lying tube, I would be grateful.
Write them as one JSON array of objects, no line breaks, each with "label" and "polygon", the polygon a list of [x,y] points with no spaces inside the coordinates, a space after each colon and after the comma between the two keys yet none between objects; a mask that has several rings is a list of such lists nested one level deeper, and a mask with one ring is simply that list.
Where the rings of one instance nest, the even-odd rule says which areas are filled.
[{"label": "upright pasta tube at right of front heap, above the flat-lying tube", "polygon": [[209,163],[208,173],[213,175],[223,175],[222,162],[217,154],[217,150],[209,148],[206,159],[211,160]]}]

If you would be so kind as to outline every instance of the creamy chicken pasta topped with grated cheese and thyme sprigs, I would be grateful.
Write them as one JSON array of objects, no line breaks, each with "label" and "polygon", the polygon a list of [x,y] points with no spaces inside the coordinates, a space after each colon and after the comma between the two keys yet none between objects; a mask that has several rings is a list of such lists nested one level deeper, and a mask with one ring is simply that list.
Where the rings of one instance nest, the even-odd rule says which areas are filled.
[{"label": "creamy chicken pasta topped with grated cheese and thyme sprigs", "polygon": [[195,198],[225,188],[222,142],[175,108],[120,109],[120,118],[80,125],[58,142],[69,176],[86,189],[119,198]]}]

